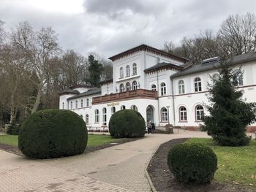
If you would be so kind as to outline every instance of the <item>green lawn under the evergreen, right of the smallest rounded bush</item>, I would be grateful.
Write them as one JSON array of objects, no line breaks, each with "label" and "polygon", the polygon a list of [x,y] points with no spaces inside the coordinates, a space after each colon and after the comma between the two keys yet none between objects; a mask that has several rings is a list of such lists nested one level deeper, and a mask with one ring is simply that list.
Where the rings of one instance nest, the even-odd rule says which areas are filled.
[{"label": "green lawn under the evergreen, right of the smallest rounded bush", "polygon": [[214,180],[218,183],[232,183],[256,187],[256,140],[248,146],[221,147],[214,145],[213,139],[189,139],[208,145],[217,155],[218,169]]}]

